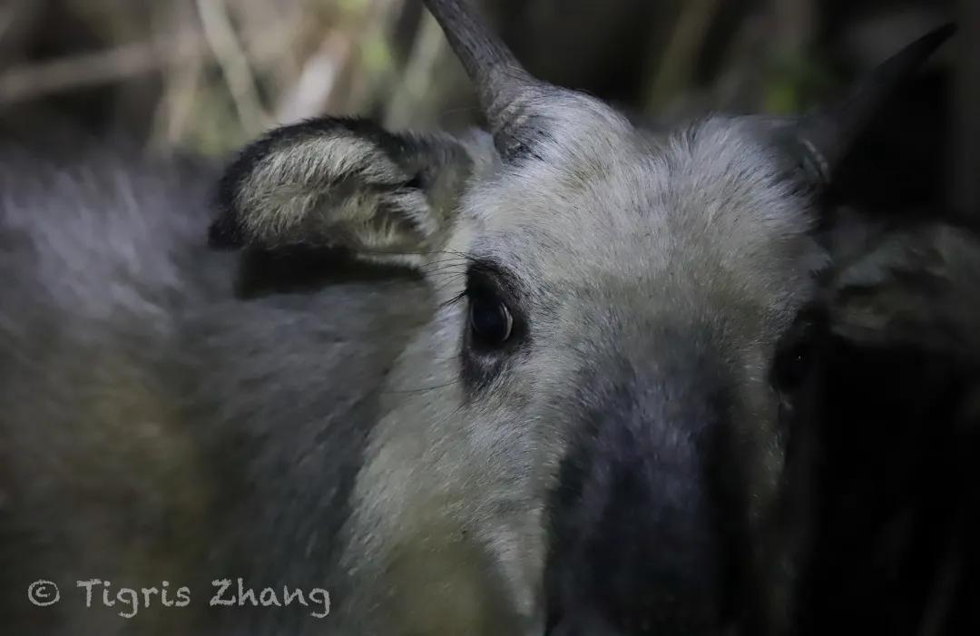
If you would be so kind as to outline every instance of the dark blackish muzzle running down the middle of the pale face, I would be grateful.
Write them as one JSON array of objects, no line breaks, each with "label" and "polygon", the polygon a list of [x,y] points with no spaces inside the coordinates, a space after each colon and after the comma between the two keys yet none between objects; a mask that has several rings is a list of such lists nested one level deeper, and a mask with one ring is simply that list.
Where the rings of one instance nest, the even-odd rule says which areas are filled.
[{"label": "dark blackish muzzle running down the middle of the pale face", "polygon": [[711,374],[685,370],[625,373],[589,400],[550,502],[550,636],[721,633],[711,455],[725,410]]}]

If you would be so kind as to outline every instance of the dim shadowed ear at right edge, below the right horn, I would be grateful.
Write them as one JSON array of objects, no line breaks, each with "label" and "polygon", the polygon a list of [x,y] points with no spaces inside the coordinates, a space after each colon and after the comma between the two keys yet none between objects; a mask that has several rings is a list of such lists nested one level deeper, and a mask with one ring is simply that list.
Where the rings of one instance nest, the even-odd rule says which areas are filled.
[{"label": "dim shadowed ear at right edge, below the right horn", "polygon": [[935,221],[902,228],[845,222],[835,233],[831,321],[838,335],[980,360],[980,236]]}]

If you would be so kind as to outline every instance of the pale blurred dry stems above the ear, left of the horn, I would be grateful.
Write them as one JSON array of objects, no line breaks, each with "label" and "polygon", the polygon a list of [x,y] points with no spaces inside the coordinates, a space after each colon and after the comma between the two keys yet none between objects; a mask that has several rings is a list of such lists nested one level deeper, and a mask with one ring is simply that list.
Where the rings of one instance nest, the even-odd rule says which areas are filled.
[{"label": "pale blurred dry stems above the ear, left of the horn", "polygon": [[8,0],[0,105],[219,153],[390,85],[399,0]]}]

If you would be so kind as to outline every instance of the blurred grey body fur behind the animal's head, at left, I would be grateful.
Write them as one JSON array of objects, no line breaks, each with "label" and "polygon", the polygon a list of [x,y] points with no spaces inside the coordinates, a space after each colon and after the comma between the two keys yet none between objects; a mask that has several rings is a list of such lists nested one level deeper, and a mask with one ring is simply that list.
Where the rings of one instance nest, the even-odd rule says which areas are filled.
[{"label": "blurred grey body fur behind the animal's head, at left", "polygon": [[[319,633],[308,611],[209,611],[211,581],[350,593],[335,535],[380,378],[427,291],[352,283],[243,305],[235,259],[204,240],[210,171],[94,149],[2,159],[5,628]],[[75,581],[93,577],[113,594],[169,580],[193,605],[86,609]],[[27,604],[39,578],[63,603]]]}]

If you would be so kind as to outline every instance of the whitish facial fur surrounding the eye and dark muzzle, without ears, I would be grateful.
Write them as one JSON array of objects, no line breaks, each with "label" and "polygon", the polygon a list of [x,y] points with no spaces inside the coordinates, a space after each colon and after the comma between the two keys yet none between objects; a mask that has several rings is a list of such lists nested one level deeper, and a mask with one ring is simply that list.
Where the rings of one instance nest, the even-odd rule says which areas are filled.
[{"label": "whitish facial fur surrounding the eye and dark muzzle, without ears", "polygon": [[501,264],[521,288],[530,345],[467,390],[466,306],[442,305],[392,374],[358,479],[347,565],[386,577],[365,603],[397,633],[539,633],[546,496],[574,424],[554,404],[573,410],[580,371],[617,352],[668,359],[647,341],[659,323],[697,325],[724,352],[760,525],[776,497],[783,457],[766,373],[827,265],[808,199],[750,122],[652,139],[584,96],[552,96],[549,113],[534,158],[471,179],[428,267],[449,301],[466,260],[440,260]]}]

